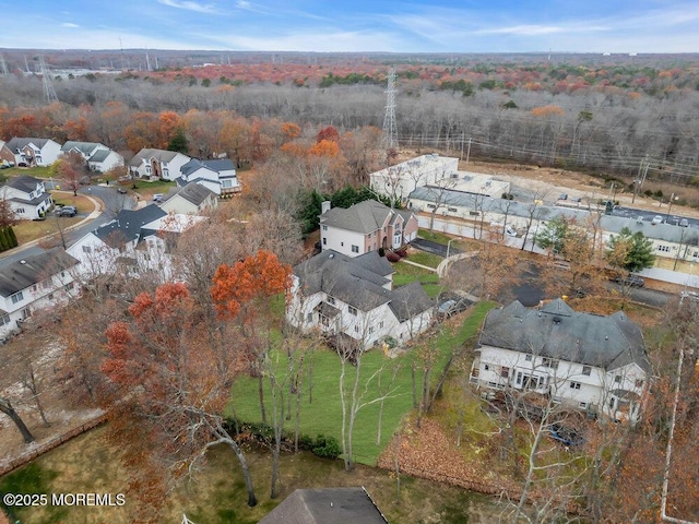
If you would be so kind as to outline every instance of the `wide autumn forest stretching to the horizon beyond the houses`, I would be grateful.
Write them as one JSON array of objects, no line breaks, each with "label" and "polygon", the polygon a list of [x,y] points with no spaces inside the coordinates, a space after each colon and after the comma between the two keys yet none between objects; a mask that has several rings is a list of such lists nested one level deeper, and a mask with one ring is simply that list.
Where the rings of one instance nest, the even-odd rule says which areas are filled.
[{"label": "wide autumn forest stretching to the horizon beyond the houses", "polygon": [[[228,57],[225,63],[222,57],[206,66],[56,75],[59,102],[51,105],[43,75],[16,64],[0,78],[0,135],[91,140],[135,153],[146,138],[134,140],[134,128],[147,128],[162,111],[183,121],[197,111],[203,120],[225,115],[254,120],[258,129],[272,120],[340,132],[380,129],[394,67],[401,146],[620,174],[631,177],[629,183],[640,172],[649,180],[699,182],[695,56],[442,58],[292,55],[256,63]],[[216,126],[221,119],[203,127]],[[201,128],[183,127],[189,153],[221,153],[199,140]]]}]

